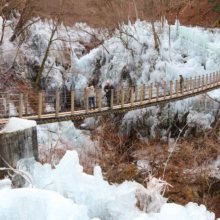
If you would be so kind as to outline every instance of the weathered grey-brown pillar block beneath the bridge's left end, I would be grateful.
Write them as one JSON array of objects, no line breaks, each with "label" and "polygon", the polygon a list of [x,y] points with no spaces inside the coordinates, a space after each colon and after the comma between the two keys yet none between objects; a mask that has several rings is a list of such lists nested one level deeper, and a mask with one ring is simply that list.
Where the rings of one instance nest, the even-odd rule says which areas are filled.
[{"label": "weathered grey-brown pillar block beneath the bridge's left end", "polygon": [[[36,127],[26,128],[14,132],[0,133],[0,155],[12,167],[22,158],[34,157],[38,161],[38,142]],[[0,160],[0,167],[7,167],[4,161]],[[0,179],[6,173],[0,172]]]}]

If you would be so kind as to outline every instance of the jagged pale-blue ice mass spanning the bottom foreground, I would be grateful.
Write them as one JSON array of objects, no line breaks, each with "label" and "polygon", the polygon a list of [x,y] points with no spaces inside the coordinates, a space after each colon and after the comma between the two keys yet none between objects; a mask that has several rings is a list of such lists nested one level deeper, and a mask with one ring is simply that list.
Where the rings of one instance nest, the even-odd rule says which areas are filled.
[{"label": "jagged pale-blue ice mass spanning the bottom foreground", "polygon": [[[55,169],[33,159],[20,161],[19,168],[32,174],[35,189],[0,189],[0,197],[3,198],[0,217],[3,220],[14,220],[14,216],[22,216],[22,213],[22,220],[215,219],[215,214],[207,211],[203,205],[189,203],[183,207],[166,204],[167,200],[161,195],[164,183],[155,178],[149,180],[146,189],[128,181],[118,186],[109,185],[103,180],[98,166],[94,168],[94,176],[87,175],[79,165],[76,151],[67,151]],[[144,210],[149,213],[140,211],[136,206],[137,201],[143,202],[141,205],[147,204]]]}]

